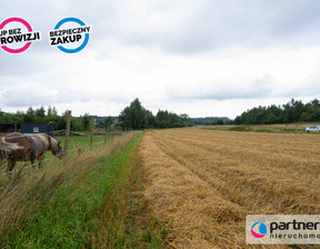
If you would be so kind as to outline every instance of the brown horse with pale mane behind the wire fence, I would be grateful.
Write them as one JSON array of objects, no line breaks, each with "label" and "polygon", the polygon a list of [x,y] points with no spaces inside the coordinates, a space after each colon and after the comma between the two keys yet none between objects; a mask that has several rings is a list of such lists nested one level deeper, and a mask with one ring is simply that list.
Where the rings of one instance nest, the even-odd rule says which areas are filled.
[{"label": "brown horse with pale mane behind the wire fence", "polygon": [[38,160],[39,169],[42,168],[42,161],[46,152],[51,152],[62,159],[62,148],[60,141],[49,135],[36,133],[26,136],[22,133],[13,132],[3,137],[6,142],[17,143],[20,149],[2,152],[2,157],[8,159],[7,171],[10,172],[14,168],[17,161],[31,161],[34,169],[36,159]]}]

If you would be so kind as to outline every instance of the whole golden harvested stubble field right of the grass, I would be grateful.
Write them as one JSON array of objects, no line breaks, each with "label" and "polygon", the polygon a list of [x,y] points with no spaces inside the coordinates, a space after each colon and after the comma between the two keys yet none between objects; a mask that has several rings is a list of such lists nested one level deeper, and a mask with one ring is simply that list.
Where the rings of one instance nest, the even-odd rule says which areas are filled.
[{"label": "whole golden harvested stubble field right of the grass", "polygon": [[319,141],[306,133],[147,132],[144,196],[169,228],[168,248],[247,248],[247,215],[319,215]]}]

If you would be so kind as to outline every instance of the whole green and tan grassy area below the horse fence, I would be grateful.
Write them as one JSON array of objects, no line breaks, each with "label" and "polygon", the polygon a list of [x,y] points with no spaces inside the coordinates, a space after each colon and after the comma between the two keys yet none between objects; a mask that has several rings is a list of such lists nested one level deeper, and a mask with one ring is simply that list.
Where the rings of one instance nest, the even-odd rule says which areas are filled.
[{"label": "whole green and tan grassy area below the horse fence", "polygon": [[74,153],[66,166],[47,165],[1,181],[0,247],[162,247],[166,229],[142,199],[131,197],[143,188],[137,136]]}]

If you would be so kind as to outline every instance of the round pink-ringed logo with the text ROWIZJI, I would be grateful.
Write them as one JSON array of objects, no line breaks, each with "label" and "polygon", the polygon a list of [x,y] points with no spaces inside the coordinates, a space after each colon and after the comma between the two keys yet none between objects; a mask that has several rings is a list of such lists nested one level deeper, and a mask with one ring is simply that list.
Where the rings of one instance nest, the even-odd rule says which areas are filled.
[{"label": "round pink-ringed logo with the text ROWIZJI", "polygon": [[0,24],[0,46],[6,52],[24,52],[33,41],[39,40],[40,32],[33,31],[31,24],[22,18],[8,18]]}]

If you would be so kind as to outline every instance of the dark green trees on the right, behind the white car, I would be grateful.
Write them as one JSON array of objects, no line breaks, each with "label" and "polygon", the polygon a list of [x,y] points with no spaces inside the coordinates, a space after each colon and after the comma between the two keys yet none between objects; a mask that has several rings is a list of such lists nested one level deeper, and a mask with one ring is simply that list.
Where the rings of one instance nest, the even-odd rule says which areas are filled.
[{"label": "dark green trees on the right, behind the white car", "polygon": [[282,106],[256,107],[244,111],[234,120],[234,124],[272,124],[290,122],[320,121],[320,101],[313,99],[308,103],[291,99]]}]

